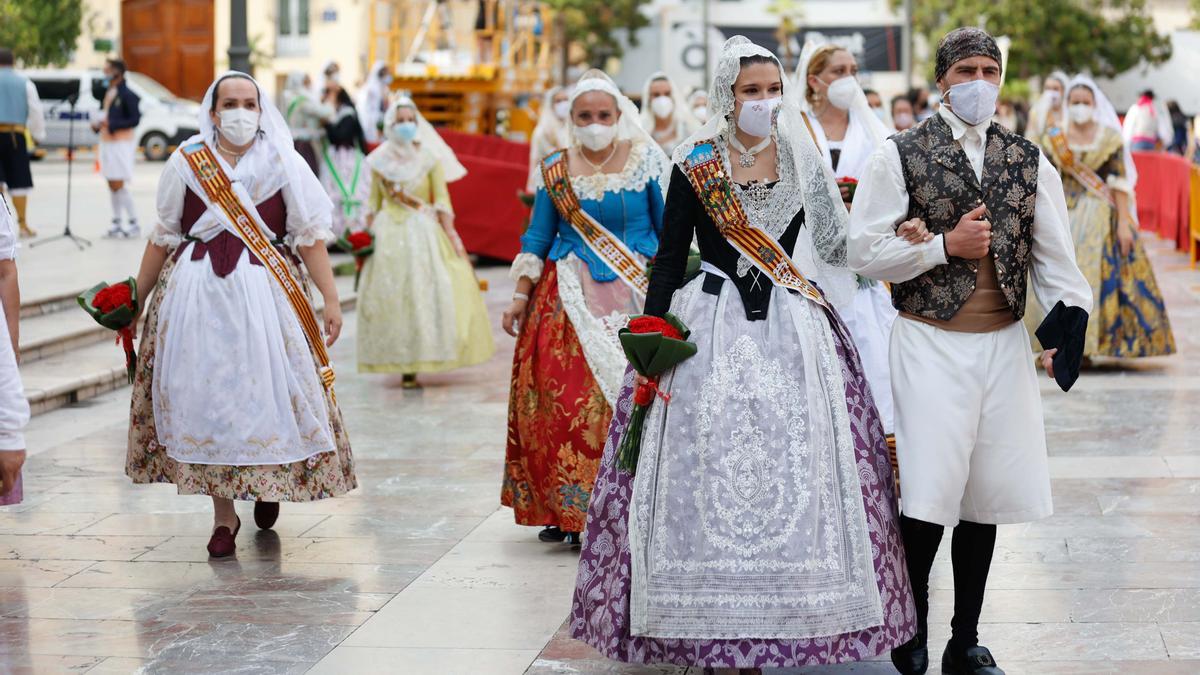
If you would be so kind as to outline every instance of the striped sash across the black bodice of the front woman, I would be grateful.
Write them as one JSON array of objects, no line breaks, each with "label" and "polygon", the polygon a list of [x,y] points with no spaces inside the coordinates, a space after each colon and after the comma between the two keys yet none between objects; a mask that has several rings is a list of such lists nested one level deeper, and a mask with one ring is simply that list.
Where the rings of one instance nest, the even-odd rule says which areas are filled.
[{"label": "striped sash across the black bodice of the front woman", "polygon": [[742,203],[725,175],[721,157],[713,144],[700,143],[684,162],[684,173],[713,219],[716,229],[751,263],[770,277],[775,286],[799,292],[814,303],[828,307],[816,286],[809,283],[787,251],[766,232],[750,225]]}]

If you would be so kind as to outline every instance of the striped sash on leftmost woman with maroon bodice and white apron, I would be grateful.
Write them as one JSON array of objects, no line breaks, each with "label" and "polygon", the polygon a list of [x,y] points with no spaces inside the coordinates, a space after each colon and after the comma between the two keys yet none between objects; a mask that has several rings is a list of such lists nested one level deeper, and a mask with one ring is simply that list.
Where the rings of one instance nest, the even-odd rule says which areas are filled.
[{"label": "striped sash on leftmost woman with maroon bodice and white apron", "polygon": [[308,347],[312,350],[320,371],[322,384],[332,396],[334,369],[329,363],[329,352],[325,351],[325,340],[322,338],[317,315],[312,311],[312,305],[308,304],[308,298],[304,294],[300,282],[288,269],[287,261],[263,234],[265,226],[256,225],[258,221],[257,211],[248,210],[238,198],[229,177],[226,175],[208,145],[193,143],[185,147],[184,157],[200,181],[210,204],[221,209],[221,213],[238,231],[238,235],[246,243],[246,247],[263,263],[263,267],[283,289],[288,303],[292,304],[292,310],[295,311],[296,319],[300,321],[300,328],[304,329],[304,334],[308,339]]}]

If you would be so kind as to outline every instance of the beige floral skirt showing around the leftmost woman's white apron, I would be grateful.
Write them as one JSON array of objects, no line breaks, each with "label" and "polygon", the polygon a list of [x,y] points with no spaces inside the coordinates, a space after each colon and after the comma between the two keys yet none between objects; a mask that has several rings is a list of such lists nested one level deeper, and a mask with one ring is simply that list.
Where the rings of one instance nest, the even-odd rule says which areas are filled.
[{"label": "beige floral skirt showing around the leftmost woman's white apron", "polygon": [[[125,473],[138,484],[174,483],[180,495],[211,495],[245,501],[310,502],[344,495],[356,488],[350,440],[342,425],[342,412],[332,401],[329,401],[329,422],[337,444],[336,452],[292,464],[259,466],[186,464],[167,456],[166,448],[158,444],[151,386],[158,309],[162,305],[167,280],[170,279],[174,268],[174,256],[172,256],[158,275],[158,283],[146,307],[145,324],[139,336],[142,344],[133,377]],[[304,280],[307,289],[307,277],[294,263],[292,273]]]}]

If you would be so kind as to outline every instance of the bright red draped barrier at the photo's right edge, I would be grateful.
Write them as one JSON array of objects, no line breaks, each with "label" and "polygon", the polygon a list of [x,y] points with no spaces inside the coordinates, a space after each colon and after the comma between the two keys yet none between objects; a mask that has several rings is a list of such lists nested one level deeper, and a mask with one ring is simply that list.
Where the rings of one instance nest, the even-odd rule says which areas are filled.
[{"label": "bright red draped barrier at the photo's right edge", "polygon": [[1188,250],[1192,163],[1169,153],[1134,153],[1138,166],[1138,220],[1175,247]]}]

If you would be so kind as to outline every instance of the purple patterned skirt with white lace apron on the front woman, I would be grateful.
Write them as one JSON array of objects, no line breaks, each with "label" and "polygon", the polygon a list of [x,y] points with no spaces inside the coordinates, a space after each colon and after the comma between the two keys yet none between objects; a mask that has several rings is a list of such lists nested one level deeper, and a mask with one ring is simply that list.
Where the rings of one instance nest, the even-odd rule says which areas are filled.
[{"label": "purple patterned skirt with white lace apron on the front woman", "polygon": [[[770,383],[779,380],[775,375],[787,380],[800,375],[816,377],[812,356],[800,358],[804,354],[796,347],[799,345],[797,336],[790,335],[786,325],[788,307],[784,306],[784,300],[792,304],[802,300],[776,291],[770,317],[751,323],[745,322],[736,291],[728,286],[732,285],[726,283],[721,291],[722,297],[706,298],[701,292],[695,303],[689,300],[689,292],[696,294],[694,288],[685,287],[676,294],[672,311],[692,329],[692,339],[701,351],[676,369],[673,375],[664,376],[666,386],[678,395],[665,410],[660,402],[654,404],[646,422],[636,477],[617,466],[617,447],[632,408],[634,374],[631,370],[626,372],[583,537],[570,617],[571,635],[613,659],[680,667],[799,668],[862,661],[886,653],[914,634],[916,607],[905,568],[887,442],[857,351],[845,325],[829,312],[826,319],[827,330],[832,329],[827,342],[829,360],[824,364],[823,358],[818,359],[822,365],[817,368],[826,372],[840,371],[840,377],[824,382],[835,386],[834,392],[826,393],[833,396],[827,402],[844,405],[844,412],[821,404],[822,396],[815,396],[811,388],[804,389],[804,402],[797,405],[790,400],[794,396],[779,394],[785,389]],[[731,318],[722,319],[720,307],[726,301],[725,316]],[[715,315],[708,310],[713,306],[718,307]],[[796,310],[792,312],[794,315]],[[709,318],[704,319],[704,316]],[[773,322],[774,325],[770,325]],[[708,328],[709,323],[712,328]],[[811,322],[802,325],[811,329]],[[768,363],[770,359],[746,358],[743,347],[749,344],[748,335],[769,338],[755,344],[763,353],[776,354],[770,359],[786,357],[788,352],[794,352],[797,358],[794,362],[774,363]],[[709,368],[704,365],[709,359],[712,372],[718,376],[706,381],[719,386],[697,387],[694,376]],[[732,368],[721,365],[731,359],[737,360]],[[728,378],[732,381],[726,382]],[[761,386],[755,387],[755,382]],[[787,401],[782,407],[791,413],[785,413],[788,417],[774,426],[769,423],[778,411],[773,412],[774,404],[766,400],[769,390],[775,392],[780,401]],[[674,413],[666,412],[671,410]],[[806,411],[811,411],[811,416],[806,416]],[[788,440],[800,436],[821,438],[812,434],[818,426],[828,426],[818,419],[827,413],[833,416],[830,420],[838,426],[841,423],[836,418],[848,416],[848,436],[841,437],[839,432],[844,440],[836,442],[838,448],[848,452],[847,456],[841,456],[844,450],[839,449],[840,459],[828,471],[788,471],[784,462],[790,454],[804,459],[828,453],[817,447],[816,440],[779,452],[781,444],[787,447],[791,443]],[[672,414],[676,416],[674,422],[671,420]],[[798,423],[799,419],[808,423]],[[805,428],[799,429],[798,424]],[[774,442],[781,438],[784,441]],[[763,453],[764,449],[769,452]],[[796,450],[799,454],[794,454]],[[666,453],[674,456],[667,458]],[[708,459],[692,470],[684,466],[689,454],[704,454]],[[749,471],[755,464],[750,460],[756,454],[766,455],[758,464],[774,467],[775,472]],[[743,459],[739,460],[739,455]],[[684,471],[668,471],[671,466],[683,466]],[[792,466],[803,465],[793,462]],[[820,465],[814,468],[820,468]],[[686,480],[679,480],[680,476],[686,476]],[[788,479],[788,476],[794,478]],[[835,476],[846,479],[839,483]],[[774,491],[769,488],[784,482],[790,482],[792,486]],[[802,500],[804,495],[808,497]],[[859,500],[859,503],[852,503]],[[822,510],[829,513],[841,510],[842,518],[828,521],[833,527],[830,534],[835,537],[818,536],[818,531],[826,527],[824,519],[803,519],[803,522],[797,522],[799,528],[788,534],[784,525],[792,519],[800,520],[798,514],[811,510],[816,504],[823,504]],[[821,604],[827,608],[828,615],[844,616],[832,623],[848,625],[853,620],[857,628],[821,632],[817,627],[830,621],[818,614],[805,621],[811,628],[800,631],[796,627],[787,634],[778,629],[776,622],[768,620],[762,621],[761,631],[731,629],[733,619],[739,616],[746,625],[748,616],[767,617],[787,602],[794,604],[791,598],[797,595],[823,593],[827,589],[841,587],[844,580],[851,577],[848,556],[840,563],[818,568],[822,571],[818,574],[805,571],[779,577],[774,571],[794,569],[798,563],[822,560],[822,551],[827,550],[829,540],[838,542],[850,536],[856,510],[865,525],[856,526],[858,533],[853,538],[862,544],[853,557],[866,558],[863,561],[865,572],[854,575],[858,579],[856,585],[874,585],[877,589],[877,616],[871,616],[874,613],[856,613],[857,616],[850,617],[847,613],[860,604],[860,596],[851,595],[835,601],[822,597]],[[664,516],[665,524],[659,524],[659,515]],[[652,532],[656,534],[648,544],[647,533]],[[788,540],[793,543],[778,544]],[[652,555],[660,545],[667,546],[662,550],[679,555],[665,558]],[[719,551],[722,557],[703,557],[701,554],[704,551]],[[750,565],[727,565],[734,558]],[[722,565],[714,567],[707,565],[707,560]],[[661,565],[662,561],[666,565]],[[761,569],[744,571],[739,567]],[[634,634],[637,622],[635,608],[644,608],[644,598],[652,595],[660,598],[658,607],[664,607],[661,589],[666,584],[671,584],[670,591],[683,589],[667,601],[667,620],[691,616],[696,614],[694,608],[709,604],[722,605],[725,610],[703,614],[702,609],[703,616],[686,631],[697,637]],[[690,584],[697,587],[688,590]],[[737,592],[738,586],[743,589],[740,592]],[[725,595],[731,587],[734,595]],[[750,599],[757,593],[769,602],[734,607],[734,601]],[[661,611],[652,621],[647,621],[649,615],[646,609],[641,615],[642,622],[648,626],[647,632],[652,634],[684,633],[662,628],[672,621],[665,620]]]}]

